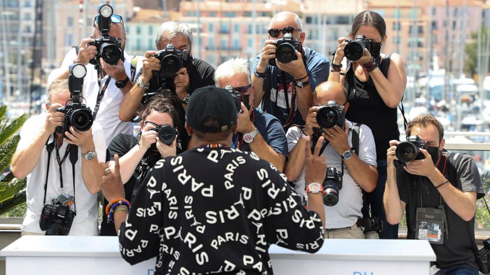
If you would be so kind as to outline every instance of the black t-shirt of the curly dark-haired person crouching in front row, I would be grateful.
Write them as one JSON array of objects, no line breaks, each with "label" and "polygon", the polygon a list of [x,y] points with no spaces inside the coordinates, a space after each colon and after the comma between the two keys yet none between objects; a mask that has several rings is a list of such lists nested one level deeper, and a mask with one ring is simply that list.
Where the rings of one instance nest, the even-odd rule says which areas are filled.
[{"label": "black t-shirt of the curly dark-haired person crouching in front row", "polygon": [[[107,147],[107,160],[114,160],[114,155],[118,154],[119,157],[124,156],[127,152],[129,152],[136,144],[138,144],[139,138],[136,138],[132,135],[128,134],[119,134],[109,143]],[[148,163],[147,171],[155,165],[155,163],[160,160],[162,157],[159,152],[151,152],[148,151],[143,159]],[[140,163],[141,164],[141,163]],[[136,171],[134,171],[133,175],[129,178],[129,180],[124,184],[124,194],[125,199],[127,201],[131,201],[131,195],[133,193],[134,185],[137,182],[137,178],[141,177],[141,173],[143,172],[147,166],[142,167],[138,166]],[[106,206],[109,202],[104,199],[104,207],[102,208],[105,211]],[[102,224],[100,225],[100,235],[101,236],[117,236],[116,230],[114,228],[113,223],[107,223],[107,215],[102,215]]]}]

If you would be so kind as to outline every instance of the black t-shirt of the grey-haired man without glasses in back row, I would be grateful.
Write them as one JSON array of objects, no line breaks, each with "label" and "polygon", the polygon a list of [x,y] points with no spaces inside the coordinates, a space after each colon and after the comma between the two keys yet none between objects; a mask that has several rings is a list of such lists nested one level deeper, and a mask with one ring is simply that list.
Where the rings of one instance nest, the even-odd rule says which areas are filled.
[{"label": "black t-shirt of the grey-haired man without glasses in back row", "polygon": [[[187,93],[192,95],[194,90],[205,87],[208,85],[214,86],[214,68],[198,58],[192,58],[192,62],[186,67],[187,73],[189,74],[189,86],[187,88]],[[137,77],[143,73],[143,68],[138,72]],[[150,88],[143,94],[143,99],[141,104],[144,106],[146,103],[150,102],[154,95],[161,94],[166,98],[170,98],[173,102],[174,108],[177,111],[177,116],[179,121],[176,128],[179,131],[179,138],[182,144],[182,148],[187,149],[187,144],[189,143],[189,135],[184,128],[185,124],[185,110],[182,107],[182,99],[177,97],[175,93],[175,85],[173,83],[173,78],[158,79],[152,77],[150,80]]]}]

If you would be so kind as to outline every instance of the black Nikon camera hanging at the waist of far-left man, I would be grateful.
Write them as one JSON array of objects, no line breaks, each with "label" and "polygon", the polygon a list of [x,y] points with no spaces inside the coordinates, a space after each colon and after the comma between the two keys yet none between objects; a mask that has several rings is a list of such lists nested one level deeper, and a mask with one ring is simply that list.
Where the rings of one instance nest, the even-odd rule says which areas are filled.
[{"label": "black Nikon camera hanging at the waist of far-left man", "polygon": [[68,235],[72,227],[75,212],[69,206],[45,205],[42,207],[39,227],[46,235]]}]

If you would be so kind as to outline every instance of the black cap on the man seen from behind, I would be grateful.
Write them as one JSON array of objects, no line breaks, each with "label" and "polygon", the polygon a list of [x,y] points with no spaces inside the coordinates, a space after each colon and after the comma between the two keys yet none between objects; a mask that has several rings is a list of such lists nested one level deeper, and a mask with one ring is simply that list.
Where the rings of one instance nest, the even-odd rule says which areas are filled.
[{"label": "black cap on the man seen from behind", "polygon": [[[187,124],[199,132],[225,132],[237,123],[238,111],[230,92],[216,86],[196,89],[186,111]],[[219,127],[204,126],[206,117],[213,117]]]}]

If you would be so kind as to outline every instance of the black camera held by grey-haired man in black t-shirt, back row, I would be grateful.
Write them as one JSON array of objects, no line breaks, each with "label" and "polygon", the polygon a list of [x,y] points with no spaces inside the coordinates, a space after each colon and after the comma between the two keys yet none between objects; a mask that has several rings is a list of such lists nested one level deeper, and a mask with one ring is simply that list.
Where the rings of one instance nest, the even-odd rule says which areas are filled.
[{"label": "black camera held by grey-haired man in black t-shirt, back row", "polygon": [[179,51],[173,44],[167,44],[163,50],[152,55],[160,60],[160,71],[154,70],[153,77],[171,78],[177,75],[179,69],[184,67],[184,62],[189,58],[187,50]]}]

